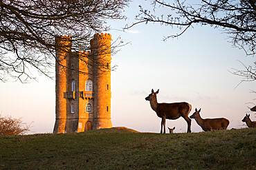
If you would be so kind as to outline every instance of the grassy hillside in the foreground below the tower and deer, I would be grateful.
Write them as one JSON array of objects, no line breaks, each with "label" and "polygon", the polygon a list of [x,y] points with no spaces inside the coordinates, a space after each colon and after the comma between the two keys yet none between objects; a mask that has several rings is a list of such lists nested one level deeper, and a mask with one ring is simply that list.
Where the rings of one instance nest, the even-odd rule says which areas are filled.
[{"label": "grassy hillside in the foreground below the tower and deer", "polygon": [[256,169],[256,128],[0,136],[0,169]]}]

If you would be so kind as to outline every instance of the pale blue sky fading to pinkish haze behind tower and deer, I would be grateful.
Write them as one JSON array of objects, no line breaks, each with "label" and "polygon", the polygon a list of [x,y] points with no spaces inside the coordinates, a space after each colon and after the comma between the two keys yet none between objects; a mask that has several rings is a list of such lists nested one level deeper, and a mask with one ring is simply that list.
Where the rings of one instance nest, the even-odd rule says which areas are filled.
[{"label": "pale blue sky fading to pinkish haze behind tower and deer", "polygon": [[[112,39],[129,43],[112,56],[111,121],[113,127],[128,127],[141,132],[159,133],[161,118],[145,100],[152,89],[159,89],[158,103],[185,101],[194,109],[201,108],[202,118],[228,118],[228,129],[245,128],[241,120],[255,114],[248,107],[256,105],[255,82],[240,83],[241,77],[231,74],[232,68],[243,70],[239,61],[250,65],[255,58],[228,43],[228,35],[220,29],[195,25],[179,37],[163,41],[164,36],[176,30],[159,24],[140,24],[123,31],[125,24],[134,22],[138,5],[149,2],[131,2],[125,8],[126,21],[108,21]],[[238,86],[237,86],[238,85]],[[10,79],[0,82],[0,114],[22,118],[30,134],[52,133],[55,123],[55,81],[38,76],[37,81],[22,84]],[[176,127],[174,133],[187,131],[183,118],[167,120],[167,127]],[[192,120],[192,131],[202,131]]]}]

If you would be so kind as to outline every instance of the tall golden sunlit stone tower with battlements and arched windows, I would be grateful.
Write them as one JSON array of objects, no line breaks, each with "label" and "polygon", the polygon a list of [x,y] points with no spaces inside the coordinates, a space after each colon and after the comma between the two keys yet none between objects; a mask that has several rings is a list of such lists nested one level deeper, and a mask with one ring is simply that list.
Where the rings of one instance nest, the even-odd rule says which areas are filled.
[{"label": "tall golden sunlit stone tower with battlements and arched windows", "polygon": [[71,41],[70,36],[56,38],[60,45],[56,62],[61,65],[56,63],[53,133],[112,127],[111,34],[95,34],[91,39],[91,52],[71,52]]}]

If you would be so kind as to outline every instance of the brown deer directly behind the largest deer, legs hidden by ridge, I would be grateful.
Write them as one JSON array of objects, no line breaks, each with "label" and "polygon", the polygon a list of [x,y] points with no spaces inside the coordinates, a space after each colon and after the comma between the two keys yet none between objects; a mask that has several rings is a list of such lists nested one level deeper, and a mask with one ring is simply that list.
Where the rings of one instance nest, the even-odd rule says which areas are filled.
[{"label": "brown deer directly behind the largest deer, legs hidden by ridge", "polygon": [[212,130],[221,130],[221,129],[227,129],[229,125],[229,120],[226,118],[201,118],[200,111],[194,112],[190,118],[194,118],[196,120],[196,123],[201,126],[203,131],[212,131]]}]

